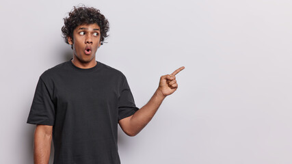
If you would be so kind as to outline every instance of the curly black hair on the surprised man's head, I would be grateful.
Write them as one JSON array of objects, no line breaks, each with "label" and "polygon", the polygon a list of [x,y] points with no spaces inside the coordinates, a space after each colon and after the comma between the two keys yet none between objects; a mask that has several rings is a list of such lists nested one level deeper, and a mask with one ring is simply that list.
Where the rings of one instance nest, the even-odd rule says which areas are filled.
[{"label": "curly black hair on the surprised man's head", "polygon": [[[107,32],[109,31],[109,21],[100,10],[96,8],[87,8],[84,5],[74,8],[68,13],[68,17],[64,18],[64,26],[62,27],[62,37],[65,42],[68,43],[68,36],[73,38],[73,31],[79,25],[90,25],[96,23],[101,28],[101,45],[105,38],[107,38]],[[71,45],[71,49],[73,46]]]}]

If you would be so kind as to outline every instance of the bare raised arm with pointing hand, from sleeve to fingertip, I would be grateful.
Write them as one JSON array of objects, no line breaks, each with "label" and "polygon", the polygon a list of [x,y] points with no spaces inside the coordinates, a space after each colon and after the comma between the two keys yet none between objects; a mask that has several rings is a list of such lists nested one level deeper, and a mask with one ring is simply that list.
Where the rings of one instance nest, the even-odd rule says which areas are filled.
[{"label": "bare raised arm with pointing hand, from sleeve to fingertip", "polygon": [[160,78],[159,87],[148,103],[133,115],[119,121],[122,131],[129,136],[135,136],[150,122],[164,98],[178,88],[175,75],[185,67],[178,68],[172,74],[166,74]]}]

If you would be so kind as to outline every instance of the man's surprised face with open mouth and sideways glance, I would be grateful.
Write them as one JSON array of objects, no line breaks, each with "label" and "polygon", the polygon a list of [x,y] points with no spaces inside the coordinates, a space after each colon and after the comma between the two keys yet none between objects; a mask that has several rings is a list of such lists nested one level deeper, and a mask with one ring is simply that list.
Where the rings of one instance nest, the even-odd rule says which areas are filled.
[{"label": "man's surprised face with open mouth and sideways glance", "polygon": [[73,53],[81,62],[95,59],[95,53],[101,46],[101,29],[94,23],[79,25],[73,31],[73,38],[68,37],[69,44],[73,45]]}]

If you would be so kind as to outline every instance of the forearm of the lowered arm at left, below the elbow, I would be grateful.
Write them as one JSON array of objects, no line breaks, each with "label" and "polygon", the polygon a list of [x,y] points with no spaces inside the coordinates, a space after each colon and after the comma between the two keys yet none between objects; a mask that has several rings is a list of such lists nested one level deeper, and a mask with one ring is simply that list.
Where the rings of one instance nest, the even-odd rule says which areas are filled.
[{"label": "forearm of the lowered arm at left, below the elbow", "polygon": [[36,129],[34,134],[34,164],[48,164],[51,153],[52,135],[39,133]]}]

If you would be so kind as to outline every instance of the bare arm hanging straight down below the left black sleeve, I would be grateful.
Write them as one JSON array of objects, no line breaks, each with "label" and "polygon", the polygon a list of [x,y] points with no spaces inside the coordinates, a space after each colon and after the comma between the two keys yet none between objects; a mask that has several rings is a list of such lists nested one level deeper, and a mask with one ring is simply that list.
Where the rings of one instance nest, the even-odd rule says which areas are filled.
[{"label": "bare arm hanging straight down below the left black sleeve", "polygon": [[36,125],[34,132],[34,164],[48,164],[51,153],[53,126]]}]

